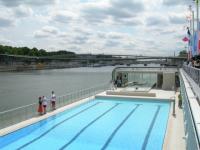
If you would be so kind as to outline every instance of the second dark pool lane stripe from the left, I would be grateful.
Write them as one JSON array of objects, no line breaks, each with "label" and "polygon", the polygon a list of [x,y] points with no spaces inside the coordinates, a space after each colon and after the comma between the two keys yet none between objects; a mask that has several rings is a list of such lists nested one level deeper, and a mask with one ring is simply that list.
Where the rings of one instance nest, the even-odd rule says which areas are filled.
[{"label": "second dark pool lane stripe from the left", "polygon": [[105,111],[104,113],[102,113],[100,116],[98,116],[97,118],[95,118],[94,120],[92,120],[90,123],[88,123],[85,127],[83,127],[68,143],[66,143],[65,145],[63,145],[61,148],[59,148],[59,150],[63,150],[65,149],[67,146],[69,146],[71,143],[73,143],[81,133],[83,133],[89,126],[91,126],[92,124],[94,124],[97,120],[99,120],[100,118],[102,118],[103,116],[105,116],[108,112],[110,112],[111,110],[113,110],[114,108],[116,108],[118,105],[120,105],[120,103],[116,103],[114,106],[112,106],[111,108],[109,108],[107,111]]}]

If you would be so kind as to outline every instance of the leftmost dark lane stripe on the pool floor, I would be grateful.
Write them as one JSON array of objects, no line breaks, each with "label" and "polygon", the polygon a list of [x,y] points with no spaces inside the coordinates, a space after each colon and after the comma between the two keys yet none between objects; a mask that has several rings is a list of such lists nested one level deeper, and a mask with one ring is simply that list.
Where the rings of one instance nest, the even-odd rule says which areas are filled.
[{"label": "leftmost dark lane stripe on the pool floor", "polygon": [[34,138],[33,140],[29,141],[28,143],[26,143],[26,144],[20,146],[20,147],[17,148],[16,150],[21,150],[21,149],[25,148],[26,146],[32,144],[33,142],[39,140],[40,138],[42,138],[43,136],[45,136],[46,134],[48,134],[50,131],[52,131],[53,129],[55,129],[57,126],[59,126],[59,125],[61,125],[62,123],[64,123],[64,122],[66,122],[66,121],[68,121],[68,120],[70,120],[70,119],[76,117],[77,115],[79,115],[79,114],[81,114],[81,113],[87,111],[88,109],[90,109],[90,108],[92,108],[92,107],[94,107],[94,106],[96,106],[96,105],[98,105],[98,104],[100,104],[100,103],[102,103],[102,102],[97,102],[97,103],[95,103],[95,104],[93,104],[93,105],[91,105],[91,106],[89,106],[89,107],[86,107],[85,109],[83,109],[83,110],[81,110],[81,111],[75,113],[74,115],[72,115],[72,116],[70,116],[70,117],[64,119],[63,121],[57,123],[56,125],[54,125],[54,126],[51,127],[50,129],[48,129],[47,131],[45,131],[43,134],[41,134],[41,135],[38,136],[37,138]]}]

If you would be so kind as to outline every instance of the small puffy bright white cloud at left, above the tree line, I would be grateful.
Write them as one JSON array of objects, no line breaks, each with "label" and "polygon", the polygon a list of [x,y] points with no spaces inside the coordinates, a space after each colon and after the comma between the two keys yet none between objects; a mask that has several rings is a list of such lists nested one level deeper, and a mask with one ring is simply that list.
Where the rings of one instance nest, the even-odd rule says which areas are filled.
[{"label": "small puffy bright white cloud at left, above the tree line", "polygon": [[34,33],[35,38],[47,38],[50,36],[55,36],[59,33],[58,29],[53,26],[45,26],[41,30]]}]

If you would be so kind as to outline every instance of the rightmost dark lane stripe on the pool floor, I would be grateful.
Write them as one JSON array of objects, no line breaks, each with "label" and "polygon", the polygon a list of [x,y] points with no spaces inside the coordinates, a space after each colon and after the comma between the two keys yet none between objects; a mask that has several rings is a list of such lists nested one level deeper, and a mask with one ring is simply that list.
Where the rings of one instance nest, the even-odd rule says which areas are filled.
[{"label": "rightmost dark lane stripe on the pool floor", "polygon": [[154,117],[153,117],[152,121],[151,121],[151,125],[149,126],[148,132],[147,132],[147,134],[146,134],[146,136],[145,136],[145,139],[144,139],[144,142],[143,142],[143,144],[142,144],[142,149],[141,149],[141,150],[145,150],[145,149],[146,149],[146,146],[147,146],[147,144],[148,144],[148,140],[149,140],[151,131],[152,131],[153,126],[154,126],[154,124],[155,124],[155,122],[156,122],[156,118],[158,117],[160,108],[161,108],[161,106],[158,105],[158,108],[157,108],[157,110],[156,110],[156,112],[155,112],[155,114],[154,114]]}]

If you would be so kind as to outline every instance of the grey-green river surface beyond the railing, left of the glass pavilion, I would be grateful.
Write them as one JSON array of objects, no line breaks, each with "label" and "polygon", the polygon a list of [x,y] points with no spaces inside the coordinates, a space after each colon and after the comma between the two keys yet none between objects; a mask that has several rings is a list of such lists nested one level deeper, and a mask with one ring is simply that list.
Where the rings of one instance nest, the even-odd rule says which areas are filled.
[{"label": "grey-green river surface beyond the railing, left of the glass pavilion", "polygon": [[0,112],[38,101],[38,97],[65,95],[111,80],[113,67],[68,68],[0,72]]}]

